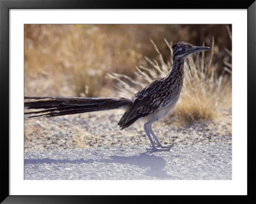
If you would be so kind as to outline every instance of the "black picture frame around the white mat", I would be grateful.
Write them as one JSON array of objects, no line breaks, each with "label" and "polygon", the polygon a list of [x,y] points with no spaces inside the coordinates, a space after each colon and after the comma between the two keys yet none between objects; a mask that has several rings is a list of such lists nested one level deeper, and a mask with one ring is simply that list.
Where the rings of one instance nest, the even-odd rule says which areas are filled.
[{"label": "black picture frame around the white mat", "polygon": [[[253,157],[255,155],[255,144],[253,139],[255,130],[253,129],[253,116],[255,115],[255,87],[256,87],[256,58],[255,58],[255,36],[256,36],[256,2],[250,1],[113,1],[113,0],[34,0],[34,1],[15,1],[0,0],[1,12],[1,46],[0,46],[0,115],[1,122],[1,198],[3,203],[108,203],[108,202],[158,202],[159,199],[166,199],[150,196],[10,196],[9,193],[9,133],[10,133],[10,98],[9,98],[9,12],[10,9],[246,9],[248,12],[247,31],[248,31],[248,195],[247,196],[172,196],[167,198],[170,201],[189,201],[189,203],[200,203],[202,201],[214,201],[214,203],[227,203],[230,201],[238,201],[239,203],[255,202],[255,193],[253,186],[255,185],[255,168],[253,167]],[[243,52],[243,51],[241,51]],[[244,66],[245,67],[245,66]],[[243,68],[241,68],[243,72]],[[246,90],[244,90],[246,91]],[[254,136],[254,137],[253,137]],[[254,184],[254,185],[253,185]],[[255,192],[255,190],[254,190]],[[211,200],[210,200],[211,199]]]}]

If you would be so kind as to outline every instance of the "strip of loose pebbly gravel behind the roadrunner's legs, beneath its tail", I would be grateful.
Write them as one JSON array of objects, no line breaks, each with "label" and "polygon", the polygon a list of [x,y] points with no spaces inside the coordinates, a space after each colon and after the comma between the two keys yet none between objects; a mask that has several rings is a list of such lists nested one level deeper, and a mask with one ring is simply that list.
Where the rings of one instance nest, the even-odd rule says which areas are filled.
[{"label": "strip of loose pebbly gravel behind the roadrunner's legs, beneath its tail", "polygon": [[[148,146],[150,142],[138,121],[124,130],[117,123],[123,110],[58,116],[52,118],[25,118],[24,150],[67,150],[73,148]],[[152,129],[164,145],[193,145],[196,143],[232,143],[232,134],[226,125],[214,122],[193,123],[177,127],[168,118],[155,122]]]}]

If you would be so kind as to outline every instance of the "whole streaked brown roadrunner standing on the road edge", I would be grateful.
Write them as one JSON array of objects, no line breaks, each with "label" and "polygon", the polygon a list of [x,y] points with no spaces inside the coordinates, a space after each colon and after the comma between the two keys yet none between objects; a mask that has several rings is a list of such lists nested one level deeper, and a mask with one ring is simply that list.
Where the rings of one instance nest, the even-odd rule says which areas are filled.
[{"label": "whole streaked brown roadrunner standing on the road edge", "polygon": [[[118,122],[121,129],[129,127],[132,123],[143,118],[145,121],[144,129],[152,145],[152,150],[169,151],[172,145],[164,146],[161,144],[152,130],[152,123],[169,113],[179,100],[184,79],[185,60],[195,52],[207,51],[210,48],[179,42],[172,46],[172,50],[172,70],[166,77],[159,77],[152,81],[132,98],[24,97],[35,100],[25,102],[26,109],[40,109],[24,114],[27,118],[52,117],[124,108],[126,111]],[[153,139],[156,141],[156,145]]]}]

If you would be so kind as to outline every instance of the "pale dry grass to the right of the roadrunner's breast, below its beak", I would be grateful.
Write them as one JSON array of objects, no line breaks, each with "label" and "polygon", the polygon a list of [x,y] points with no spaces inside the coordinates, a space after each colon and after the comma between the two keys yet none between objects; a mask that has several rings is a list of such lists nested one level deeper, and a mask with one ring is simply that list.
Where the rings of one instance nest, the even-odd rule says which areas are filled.
[{"label": "pale dry grass to the right of the roadrunner's breast, below its beak", "polygon": [[205,58],[204,53],[201,57],[197,55],[196,59],[189,58],[185,67],[184,86],[175,115],[187,123],[219,120],[225,109],[231,107],[231,75],[217,74],[217,67],[211,65],[213,53],[214,42],[210,58]]}]

